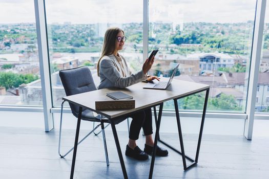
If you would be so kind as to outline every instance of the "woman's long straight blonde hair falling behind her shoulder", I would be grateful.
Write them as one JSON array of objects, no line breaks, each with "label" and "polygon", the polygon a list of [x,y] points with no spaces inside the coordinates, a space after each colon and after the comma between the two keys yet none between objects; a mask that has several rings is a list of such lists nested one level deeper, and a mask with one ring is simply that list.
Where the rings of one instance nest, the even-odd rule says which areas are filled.
[{"label": "woman's long straight blonde hair falling behind her shoulder", "polygon": [[111,55],[115,52],[116,50],[115,40],[119,32],[122,32],[124,35],[123,30],[117,27],[111,27],[105,33],[104,43],[102,47],[102,54],[97,63],[97,75],[98,76],[99,76],[99,65],[100,65],[101,58],[107,55]]}]

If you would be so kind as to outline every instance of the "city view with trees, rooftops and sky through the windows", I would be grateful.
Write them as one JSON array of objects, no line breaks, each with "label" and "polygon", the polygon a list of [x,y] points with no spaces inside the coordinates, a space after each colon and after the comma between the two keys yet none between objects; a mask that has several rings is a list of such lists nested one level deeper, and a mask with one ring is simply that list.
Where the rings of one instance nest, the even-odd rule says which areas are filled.
[{"label": "city view with trees, rooftops and sky through the windows", "polygon": [[[2,1],[1,3],[11,5],[16,1]],[[20,3],[23,4],[23,2]],[[21,9],[17,13],[23,15],[29,13],[31,9],[33,11],[33,3],[30,3],[31,6],[27,3],[29,2],[20,6]],[[155,48],[159,49],[150,74],[169,77],[168,69],[171,68],[171,65],[173,66],[173,63],[176,62],[180,63],[180,72],[175,78],[211,85],[209,110],[244,111],[254,28],[254,20],[250,19],[255,17],[255,1],[248,1],[244,4],[219,1],[218,6],[223,4],[222,10],[219,10],[217,5],[214,5],[214,9],[212,9],[211,6],[208,6],[210,3],[215,2],[204,1],[201,4],[200,1],[182,1],[181,3],[169,1],[169,5],[165,6],[163,1],[154,1],[154,3],[149,1],[149,53]],[[119,1],[106,2],[106,4],[102,4],[102,1],[99,3],[81,1],[80,4],[46,1],[45,5],[50,74],[55,106],[60,105],[61,96],[65,95],[58,78],[59,70],[87,65],[91,69],[96,86],[99,84],[96,64],[105,31],[111,26],[120,27],[125,31],[127,41],[120,53],[126,57],[131,71],[135,73],[141,69],[144,60],[142,1],[132,1],[130,10],[129,6],[124,6]],[[78,11],[81,5],[92,7],[95,10],[88,12],[87,8],[82,8]],[[244,8],[240,8],[241,6]],[[97,7],[103,7],[102,11],[98,13],[98,17],[91,14],[97,13],[99,10]],[[117,7],[119,10],[114,11],[110,7]],[[122,11],[123,7],[128,11]],[[226,10],[223,7],[230,7],[229,14],[225,14]],[[187,10],[188,8],[191,10]],[[231,18],[235,14],[246,12],[248,15],[240,15],[240,20]],[[34,17],[34,12],[32,13],[32,17]],[[134,15],[127,19],[126,13],[134,13]],[[84,18],[88,16],[90,18]],[[112,17],[111,20],[108,20],[109,16]],[[229,19],[225,19],[223,16],[229,17]],[[236,20],[239,22],[235,23]],[[0,104],[6,103],[3,94],[6,96],[9,94],[13,96],[16,104],[42,105],[42,101],[40,101],[42,99],[41,83],[40,79],[37,79],[37,77],[40,78],[40,74],[35,23],[24,23],[23,21],[15,24],[0,22],[0,87],[3,91],[2,97],[0,95],[2,98]],[[225,21],[229,21],[229,23],[225,23]],[[269,26],[265,23],[264,32],[267,32],[268,29]],[[265,80],[266,75],[269,74],[267,73],[269,69],[269,36],[267,33],[264,34],[262,52],[264,54],[260,64],[256,110],[267,112],[269,111],[269,84]],[[178,76],[179,74],[180,76]],[[13,78],[13,76],[26,80],[14,80],[12,83],[8,83],[7,77]],[[202,106],[194,103],[202,100],[200,96],[180,100],[180,108],[200,110]],[[168,102],[164,108],[169,110],[173,108],[172,105]]]}]

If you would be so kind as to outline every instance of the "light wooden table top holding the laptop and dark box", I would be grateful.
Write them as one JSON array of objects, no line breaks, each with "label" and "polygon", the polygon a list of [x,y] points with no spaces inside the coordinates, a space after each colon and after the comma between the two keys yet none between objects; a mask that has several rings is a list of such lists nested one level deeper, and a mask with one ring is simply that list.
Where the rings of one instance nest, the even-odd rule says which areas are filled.
[{"label": "light wooden table top holding the laptop and dark box", "polygon": [[[80,93],[77,95],[63,97],[63,100],[71,102],[81,107],[88,108],[95,111],[98,114],[104,115],[107,118],[120,117],[126,115],[133,111],[147,108],[164,101],[168,101],[175,98],[180,98],[192,93],[196,93],[201,90],[208,89],[210,85],[177,80],[174,79],[173,82],[166,90],[160,89],[143,89],[143,86],[147,83],[137,83],[131,85],[127,88],[104,88],[96,91]],[[135,108],[128,110],[96,110],[95,101],[108,101],[113,100],[106,96],[107,93],[120,91],[133,96],[135,100]]]}]

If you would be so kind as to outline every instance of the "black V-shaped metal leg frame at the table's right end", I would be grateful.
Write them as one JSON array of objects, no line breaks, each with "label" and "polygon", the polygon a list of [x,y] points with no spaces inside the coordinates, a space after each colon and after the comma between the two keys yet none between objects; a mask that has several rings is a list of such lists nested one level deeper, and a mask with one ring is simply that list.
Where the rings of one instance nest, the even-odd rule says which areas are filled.
[{"label": "black V-shaped metal leg frame at the table's right end", "polygon": [[[208,104],[208,98],[209,98],[209,89],[206,89],[204,106],[203,106],[203,114],[202,114],[202,120],[201,120],[201,126],[200,126],[200,132],[199,132],[199,138],[198,138],[198,145],[197,145],[195,160],[193,158],[191,158],[190,156],[186,155],[185,152],[184,152],[184,145],[183,145],[183,138],[182,138],[182,130],[181,130],[181,125],[180,125],[178,104],[177,104],[177,100],[176,99],[174,99],[174,103],[175,103],[175,111],[176,111],[176,119],[177,119],[178,135],[179,135],[179,139],[180,139],[180,148],[181,148],[181,151],[179,151],[178,149],[176,149],[173,146],[169,145],[168,143],[162,141],[160,139],[160,136],[159,136],[159,139],[158,139],[159,142],[161,142],[165,146],[171,148],[175,152],[177,152],[180,155],[182,155],[182,161],[183,161],[183,168],[184,168],[184,170],[187,170],[187,169],[195,166],[198,163],[198,156],[199,156],[199,151],[200,151],[200,146],[201,146],[203,125],[204,125],[204,119],[205,119],[205,113],[206,113],[206,106]],[[154,114],[156,115],[156,108],[154,108]],[[155,122],[156,122],[156,125],[157,125],[157,119],[156,119],[156,117],[155,117]],[[188,159],[189,161],[191,161],[191,164],[187,165],[186,164],[186,159]]]}]

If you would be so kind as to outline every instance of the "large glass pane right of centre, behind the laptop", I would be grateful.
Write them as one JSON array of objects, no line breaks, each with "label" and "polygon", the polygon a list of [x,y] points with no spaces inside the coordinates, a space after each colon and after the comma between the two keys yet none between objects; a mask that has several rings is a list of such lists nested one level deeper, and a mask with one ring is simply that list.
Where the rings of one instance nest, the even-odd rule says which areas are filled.
[{"label": "large glass pane right of centre, behind the laptop", "polygon": [[[255,8],[255,0],[149,1],[149,52],[159,49],[150,73],[169,77],[180,63],[175,79],[211,85],[208,110],[244,112]],[[203,102],[204,94],[178,101],[190,110]]]}]

